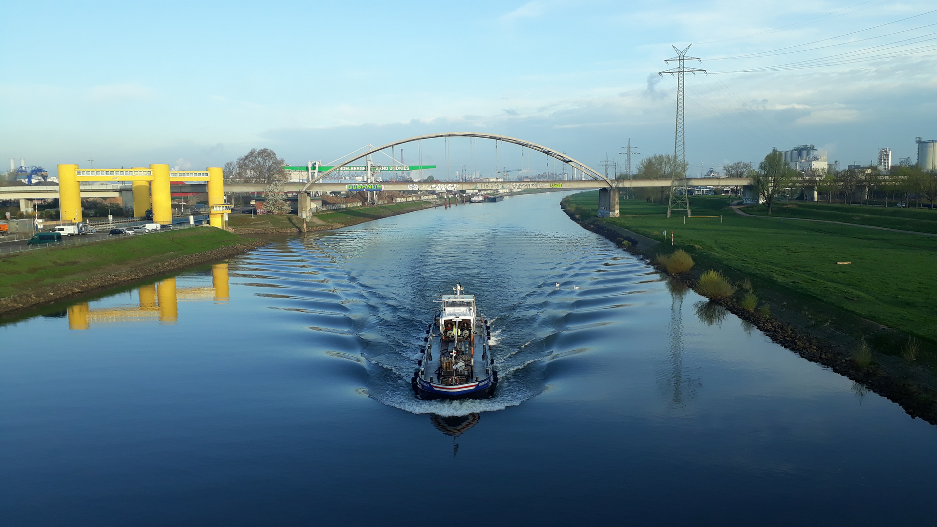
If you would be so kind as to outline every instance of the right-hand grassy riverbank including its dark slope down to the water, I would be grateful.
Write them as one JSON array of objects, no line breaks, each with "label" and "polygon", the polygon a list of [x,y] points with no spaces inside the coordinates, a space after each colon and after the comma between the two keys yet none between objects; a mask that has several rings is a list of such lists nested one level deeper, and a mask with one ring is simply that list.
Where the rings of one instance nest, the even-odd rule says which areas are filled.
[{"label": "right-hand grassy riverbank including its dark slope down to the water", "polygon": [[[796,335],[817,339],[823,345],[811,360],[868,383],[906,410],[915,408],[913,414],[927,414],[937,422],[937,303],[932,300],[937,237],[782,221],[812,217],[928,232],[930,219],[917,216],[937,214],[820,203],[776,205],[772,218],[754,218],[736,214],[727,198],[694,196],[692,218],[666,218],[666,206],[634,200],[620,201],[619,218],[595,218],[597,202],[598,192],[583,192],[566,198],[564,206],[594,230],[614,226],[658,240],[652,248],[641,244],[640,252],[651,261],[657,254],[685,250],[695,265],[683,281],[696,287],[703,271],[720,271],[736,286],[723,305],[768,329],[775,323],[791,329],[785,329],[788,341],[776,340],[792,349],[797,348]],[[761,212],[758,207],[745,210],[752,208]],[[860,208],[871,210],[854,212]],[[606,234],[618,235],[627,238]],[[754,310],[741,308],[749,294],[756,299]],[[764,306],[768,316],[758,314]],[[854,355],[862,342],[868,344],[871,359],[857,364]]]}]

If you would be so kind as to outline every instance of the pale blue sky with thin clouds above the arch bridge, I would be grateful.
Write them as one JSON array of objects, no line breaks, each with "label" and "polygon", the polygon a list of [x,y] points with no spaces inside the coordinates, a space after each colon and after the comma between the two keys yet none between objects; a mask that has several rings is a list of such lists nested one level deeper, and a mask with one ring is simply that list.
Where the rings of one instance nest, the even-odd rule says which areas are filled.
[{"label": "pale blue sky with thin clouds above the arch bridge", "polygon": [[[7,2],[0,158],[50,169],[91,158],[97,167],[201,168],[270,147],[305,164],[366,143],[480,130],[596,167],[606,152],[621,159],[629,137],[643,154],[673,152],[675,82],[656,73],[672,44],[689,43],[705,59],[696,67],[710,71],[855,53],[809,63],[820,68],[688,77],[691,173],[701,162],[757,161],[800,143],[843,164],[868,162],[881,146],[896,160],[914,158],[915,137],[937,139],[935,8],[932,0]],[[772,50],[781,51],[715,60]],[[468,161],[459,144],[453,165]],[[415,161],[415,145],[405,149]],[[424,145],[424,162],[441,162],[440,152]],[[482,158],[492,164],[487,150]]]}]

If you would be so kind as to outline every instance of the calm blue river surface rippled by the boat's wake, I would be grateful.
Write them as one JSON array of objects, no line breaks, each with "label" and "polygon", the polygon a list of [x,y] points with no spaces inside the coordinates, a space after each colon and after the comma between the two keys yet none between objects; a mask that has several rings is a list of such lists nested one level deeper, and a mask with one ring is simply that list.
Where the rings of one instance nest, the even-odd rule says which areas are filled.
[{"label": "calm blue river surface rippled by the boat's wake", "polygon": [[[278,239],[0,326],[0,524],[935,524],[937,429],[559,197]],[[414,399],[456,280],[497,396]]]}]

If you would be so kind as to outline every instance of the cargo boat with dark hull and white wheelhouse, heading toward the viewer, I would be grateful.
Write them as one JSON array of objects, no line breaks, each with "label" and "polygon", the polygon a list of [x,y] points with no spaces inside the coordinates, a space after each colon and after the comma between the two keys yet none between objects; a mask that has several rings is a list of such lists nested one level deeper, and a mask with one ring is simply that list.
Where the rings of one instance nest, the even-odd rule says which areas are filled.
[{"label": "cargo boat with dark hull and white wheelhouse, heading toward the viewer", "polygon": [[410,384],[420,399],[487,399],[498,372],[491,356],[491,329],[478,312],[475,295],[461,284],[443,294]]}]

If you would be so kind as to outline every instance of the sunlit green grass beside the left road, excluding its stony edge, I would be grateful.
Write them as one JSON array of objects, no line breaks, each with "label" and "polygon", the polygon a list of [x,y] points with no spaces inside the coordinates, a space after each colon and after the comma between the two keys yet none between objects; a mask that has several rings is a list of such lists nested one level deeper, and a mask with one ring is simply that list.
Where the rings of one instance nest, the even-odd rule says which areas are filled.
[{"label": "sunlit green grass beside the left road, excluding its stony edge", "polygon": [[0,258],[0,296],[90,278],[102,270],[141,267],[244,241],[241,236],[221,229],[198,227],[21,252]]}]

